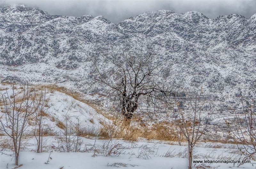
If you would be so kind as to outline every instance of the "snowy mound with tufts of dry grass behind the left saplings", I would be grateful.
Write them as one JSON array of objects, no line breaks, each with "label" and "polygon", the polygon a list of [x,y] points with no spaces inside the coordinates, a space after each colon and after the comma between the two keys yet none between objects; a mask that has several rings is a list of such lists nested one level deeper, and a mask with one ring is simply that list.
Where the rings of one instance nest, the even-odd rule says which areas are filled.
[{"label": "snowy mound with tufts of dry grass behind the left saplings", "polygon": [[[15,86],[15,93],[22,91],[21,87],[22,86]],[[37,90],[37,92],[40,92],[40,87],[37,87]],[[0,85],[1,103],[2,94],[7,96],[7,93],[9,96],[12,95],[11,86]],[[17,95],[17,97],[21,97],[21,94]],[[42,124],[44,124],[44,128],[49,128],[52,132],[59,132],[62,130],[56,124],[61,122],[65,125],[66,117],[68,119],[68,124],[69,122],[72,122],[73,125],[76,125],[79,120],[80,127],[86,127],[87,129],[94,128],[95,130],[99,130],[101,128],[100,121],[105,122],[107,120],[87,104],[56,90],[47,89],[46,99],[49,99],[49,102],[47,103],[49,109],[45,112],[46,115],[43,117]],[[3,104],[0,105],[0,110],[0,116],[2,117],[4,111]],[[4,119],[4,117],[2,118]],[[26,131],[27,133],[35,128],[35,121],[29,121],[28,124],[29,128]]]}]

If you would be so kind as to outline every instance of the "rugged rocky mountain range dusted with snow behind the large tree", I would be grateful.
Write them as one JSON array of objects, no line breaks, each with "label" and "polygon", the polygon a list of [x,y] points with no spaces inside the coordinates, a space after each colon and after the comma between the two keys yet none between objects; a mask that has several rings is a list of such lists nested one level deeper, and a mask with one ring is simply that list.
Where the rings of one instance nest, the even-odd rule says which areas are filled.
[{"label": "rugged rocky mountain range dusted with snow behind the large tree", "polygon": [[256,14],[209,19],[189,11],[146,12],[119,24],[102,16],[51,16],[24,5],[0,6],[2,82],[54,83],[86,92],[87,53],[150,41],[161,47],[169,81],[205,89],[222,102],[256,96]]}]

